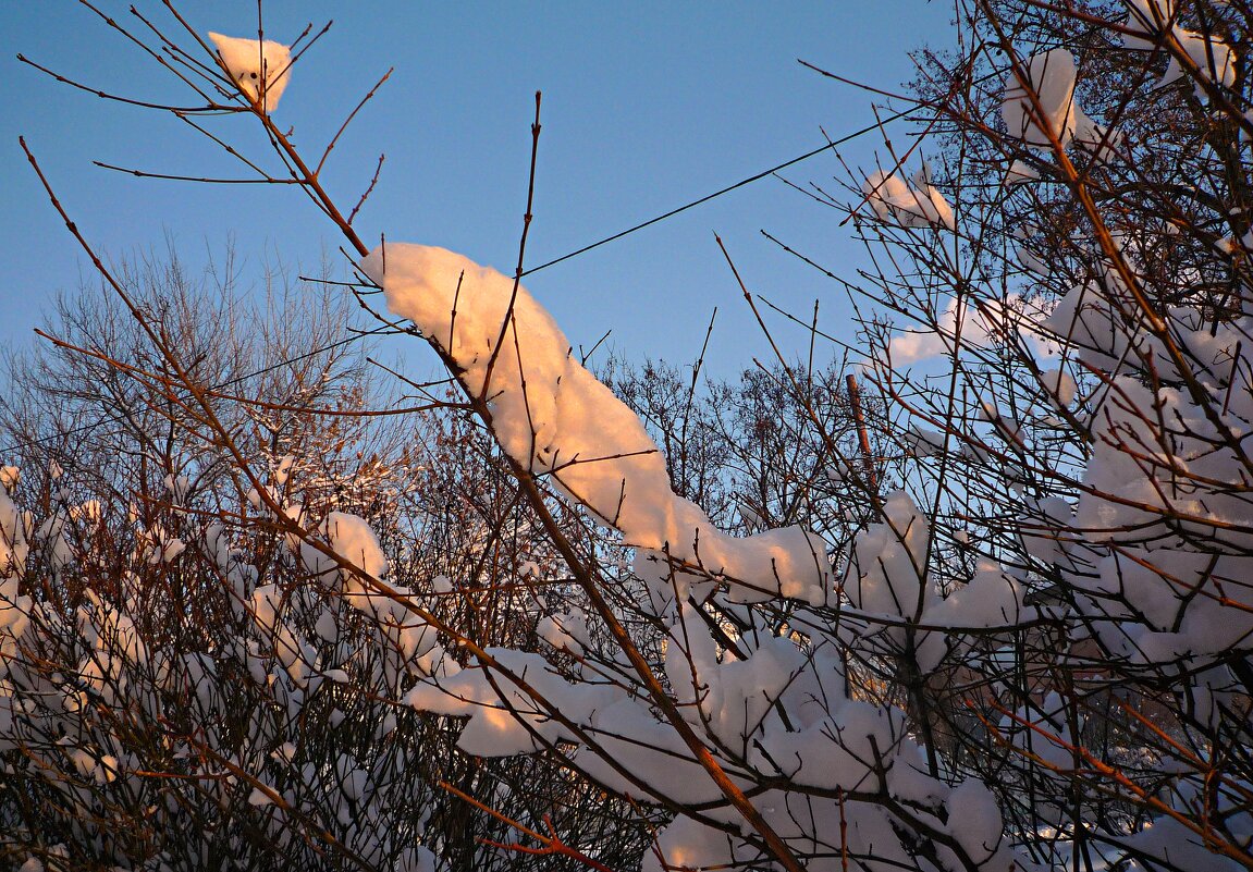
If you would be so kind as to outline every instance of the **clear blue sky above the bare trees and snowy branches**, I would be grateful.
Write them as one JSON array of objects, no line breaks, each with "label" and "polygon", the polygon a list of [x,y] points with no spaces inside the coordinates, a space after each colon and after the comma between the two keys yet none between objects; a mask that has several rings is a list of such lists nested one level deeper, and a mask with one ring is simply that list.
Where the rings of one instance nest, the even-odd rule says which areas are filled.
[{"label": "clear blue sky above the bare trees and snowy branches", "polygon": [[[119,20],[127,3],[98,0]],[[139,3],[177,33],[159,3]],[[256,33],[257,4],[180,4],[202,31]],[[373,81],[391,80],[342,140],[326,170],[351,205],[387,160],[357,219],[367,239],[454,248],[511,273],[525,205],[534,91],[544,91],[535,222],[538,264],[819,145],[873,120],[871,100],[802,68],[895,88],[906,53],[950,40],[946,4],[860,3],[415,3],[267,0],[267,36],[294,38],[335,19],[296,68],[276,110],[311,152]],[[244,274],[282,259],[312,269],[340,244],[293,190],[137,179],[93,159],[163,173],[231,173],[189,128],[108,103],[15,60],[140,99],[187,101],[172,78],[73,0],[0,4],[0,341],[26,342],[53,294],[88,269],[25,164],[26,137],[83,232],[113,257],[162,252],[173,239],[193,262],[234,239]],[[264,155],[254,132],[226,119],[222,135]],[[237,137],[238,134],[238,137]],[[841,149],[868,167],[873,135]],[[806,183],[841,175],[831,155],[787,172]],[[852,273],[857,248],[840,217],[764,179],[526,282],[571,342],[610,342],[633,360],[690,362],[719,307],[712,365],[730,375],[768,356],[718,252],[718,232],[754,291],[804,317],[821,299],[826,326],[851,337],[842,292],[758,234]],[[787,338],[784,336],[784,338]],[[793,335],[794,338],[794,335]]]}]

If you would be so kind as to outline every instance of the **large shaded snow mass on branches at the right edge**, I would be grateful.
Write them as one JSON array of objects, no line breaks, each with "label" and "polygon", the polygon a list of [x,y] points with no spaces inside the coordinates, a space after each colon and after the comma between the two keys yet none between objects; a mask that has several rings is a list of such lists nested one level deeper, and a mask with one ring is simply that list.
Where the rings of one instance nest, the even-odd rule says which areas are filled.
[{"label": "large shaded snow mass on branches at the right edge", "polygon": [[[1135,248],[1124,257],[1134,272]],[[1188,304],[1154,316],[1139,299],[1106,267],[1041,321],[1101,387],[1088,400],[1093,449],[1074,515],[1059,500],[1037,501],[1019,536],[1027,554],[1060,571],[1065,589],[1083,591],[1078,603],[1099,616],[1090,626],[1106,650],[1204,670],[1253,648],[1243,447],[1253,432],[1253,319],[1214,324]],[[1040,372],[1040,383],[1056,407],[1076,398],[1060,368]]]}]

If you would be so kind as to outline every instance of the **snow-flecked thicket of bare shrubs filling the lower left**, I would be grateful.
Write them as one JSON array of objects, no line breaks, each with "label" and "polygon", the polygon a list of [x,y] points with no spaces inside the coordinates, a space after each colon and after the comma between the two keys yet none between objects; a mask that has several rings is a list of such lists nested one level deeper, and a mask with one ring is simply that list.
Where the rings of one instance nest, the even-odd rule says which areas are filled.
[{"label": "snow-flecked thicket of bare shrubs filling the lower left", "polygon": [[[400,704],[450,645],[413,608],[479,620],[484,644],[534,636],[538,618],[502,579],[524,559],[546,573],[553,556],[507,499],[490,440],[439,410],[403,431],[353,417],[375,388],[352,357],[273,372],[292,337],[342,324],[341,307],[267,322],[211,302],[177,264],[144,276],[137,293],[194,371],[247,378],[249,400],[216,415],[256,462],[222,464],[164,386],[65,350],[15,362],[10,396],[26,402],[5,410],[23,466],[0,491],[4,863],[56,868],[60,852],[75,869],[416,871],[435,848],[492,868],[477,839],[509,829],[441,782],[515,817],[581,797],[554,819],[609,832],[616,803],[568,771],[475,759],[454,747],[455,722]],[[154,367],[119,316],[65,297],[50,331]],[[103,423],[75,432],[83,420]],[[611,841],[633,838],[639,853],[638,831]]]}]

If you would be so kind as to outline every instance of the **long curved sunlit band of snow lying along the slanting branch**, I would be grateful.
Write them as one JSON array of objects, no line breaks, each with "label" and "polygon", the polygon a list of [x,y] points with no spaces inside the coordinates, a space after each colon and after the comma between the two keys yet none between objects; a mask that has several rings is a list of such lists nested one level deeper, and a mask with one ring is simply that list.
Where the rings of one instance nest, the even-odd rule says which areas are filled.
[{"label": "long curved sunlit band of snow lying along the slanting branch", "polygon": [[573,360],[570,343],[525,288],[446,251],[388,243],[361,264],[487,398],[501,447],[548,476],[626,542],[724,575],[746,599],[812,603],[829,591],[826,545],[799,527],[744,539],[717,530],[670,489],[665,460],[635,413]]}]

